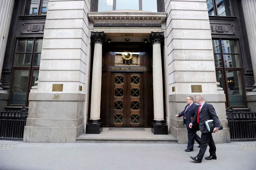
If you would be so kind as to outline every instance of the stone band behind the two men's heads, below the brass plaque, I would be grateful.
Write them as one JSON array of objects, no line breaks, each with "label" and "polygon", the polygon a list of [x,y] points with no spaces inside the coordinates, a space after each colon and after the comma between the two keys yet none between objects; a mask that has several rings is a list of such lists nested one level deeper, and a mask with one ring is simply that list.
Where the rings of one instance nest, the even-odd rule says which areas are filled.
[{"label": "stone band behind the two men's heads, below the brass plaque", "polygon": [[[198,94],[173,94],[169,95],[169,102],[184,102],[186,97],[191,95],[194,98]],[[204,94],[204,99],[207,103],[210,102],[225,102],[226,96],[225,94]]]}]

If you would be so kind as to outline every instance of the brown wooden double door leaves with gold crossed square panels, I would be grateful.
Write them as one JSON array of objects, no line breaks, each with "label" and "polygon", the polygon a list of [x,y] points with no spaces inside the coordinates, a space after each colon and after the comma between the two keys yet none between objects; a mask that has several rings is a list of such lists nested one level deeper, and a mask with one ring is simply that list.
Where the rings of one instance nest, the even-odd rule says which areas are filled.
[{"label": "brown wooden double door leaves with gold crossed square panels", "polygon": [[111,127],[143,127],[143,74],[111,74]]}]

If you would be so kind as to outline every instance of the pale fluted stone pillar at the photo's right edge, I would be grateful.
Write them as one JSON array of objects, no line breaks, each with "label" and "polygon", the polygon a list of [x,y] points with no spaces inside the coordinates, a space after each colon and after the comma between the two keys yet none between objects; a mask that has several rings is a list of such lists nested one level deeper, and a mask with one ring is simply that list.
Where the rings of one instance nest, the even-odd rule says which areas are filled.
[{"label": "pale fluted stone pillar at the photo's right edge", "polygon": [[[254,87],[256,87],[256,3],[253,0],[242,0],[244,20],[247,30],[250,55],[253,65]],[[250,111],[256,112],[256,88],[246,93],[247,105]]]}]

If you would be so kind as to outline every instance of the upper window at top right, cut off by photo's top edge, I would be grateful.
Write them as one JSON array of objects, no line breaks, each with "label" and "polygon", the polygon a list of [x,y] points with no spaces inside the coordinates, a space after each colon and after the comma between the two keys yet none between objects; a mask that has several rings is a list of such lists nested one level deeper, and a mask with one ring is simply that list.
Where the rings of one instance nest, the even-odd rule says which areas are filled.
[{"label": "upper window at top right, cut off by photo's top edge", "polygon": [[232,16],[229,0],[207,0],[209,16]]}]

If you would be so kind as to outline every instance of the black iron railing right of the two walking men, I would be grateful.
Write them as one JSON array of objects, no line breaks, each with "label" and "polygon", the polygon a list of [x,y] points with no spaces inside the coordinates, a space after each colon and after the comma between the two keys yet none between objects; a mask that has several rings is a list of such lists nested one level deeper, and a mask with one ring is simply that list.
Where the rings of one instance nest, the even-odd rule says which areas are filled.
[{"label": "black iron railing right of the two walking men", "polygon": [[256,140],[256,112],[227,110],[231,140]]}]

